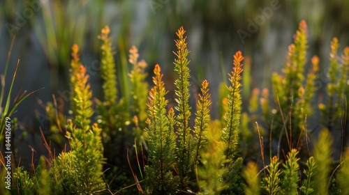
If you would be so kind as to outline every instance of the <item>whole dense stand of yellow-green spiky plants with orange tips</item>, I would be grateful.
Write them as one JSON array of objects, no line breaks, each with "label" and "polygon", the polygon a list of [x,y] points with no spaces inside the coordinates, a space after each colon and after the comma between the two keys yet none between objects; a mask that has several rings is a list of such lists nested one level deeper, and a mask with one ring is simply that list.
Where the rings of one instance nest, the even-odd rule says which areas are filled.
[{"label": "whole dense stand of yellow-green spiky plants with orange tips", "polygon": [[[221,118],[214,120],[210,116],[207,80],[192,97],[190,52],[183,27],[174,41],[177,79],[175,103],[170,104],[161,66],[155,65],[154,84],[148,92],[147,63],[138,61],[134,46],[129,51],[129,81],[123,83],[131,86],[130,100],[119,93],[110,29],[105,26],[98,36],[102,41],[103,99],[93,99],[79,47],[73,45],[70,115],[67,119],[62,116],[55,102],[47,103],[46,109],[50,125],[59,129],[50,134],[65,138],[57,141],[64,149],[56,157],[51,142],[46,141],[48,136],[41,132],[50,156],[40,157],[36,167],[33,162],[30,171],[13,166],[13,188],[8,190],[1,182],[0,194],[348,194],[349,149],[343,148],[343,137],[348,132],[349,47],[339,56],[339,41],[332,40],[327,105],[319,104],[322,130],[313,143],[307,121],[316,109],[312,105],[320,68],[314,56],[304,77],[306,32],[306,22],[302,21],[295,42],[288,48],[283,75],[272,76],[273,93],[263,89],[260,95],[255,89],[248,113],[242,112],[244,56],[236,52],[229,82],[223,82],[219,90]],[[22,95],[13,109],[9,109],[9,100],[6,102],[5,109],[1,109],[1,127],[26,97]],[[194,109],[189,103],[191,98],[197,100]],[[338,162],[332,157],[332,132],[341,132]],[[264,140],[264,135],[269,139]],[[2,139],[3,134],[1,143]],[[260,159],[244,162],[248,157],[244,147],[252,144],[244,143],[248,140],[259,141]],[[269,154],[265,155],[267,150]],[[0,161],[4,178],[3,153]]]}]

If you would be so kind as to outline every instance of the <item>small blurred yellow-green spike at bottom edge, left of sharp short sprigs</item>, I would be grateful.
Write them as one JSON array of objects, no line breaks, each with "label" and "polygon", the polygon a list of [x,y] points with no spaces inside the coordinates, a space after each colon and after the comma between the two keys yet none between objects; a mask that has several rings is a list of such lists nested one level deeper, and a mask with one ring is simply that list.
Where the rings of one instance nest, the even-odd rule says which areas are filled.
[{"label": "small blurred yellow-green spike at bottom edge, left of sharp short sprigs", "polygon": [[247,166],[242,170],[242,176],[247,182],[247,186],[245,187],[246,195],[260,194],[258,171],[258,166],[255,162],[248,162]]}]

